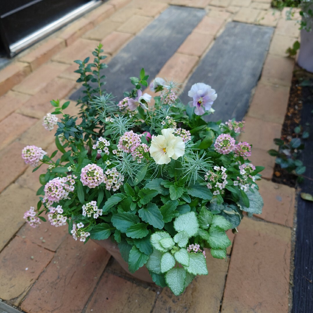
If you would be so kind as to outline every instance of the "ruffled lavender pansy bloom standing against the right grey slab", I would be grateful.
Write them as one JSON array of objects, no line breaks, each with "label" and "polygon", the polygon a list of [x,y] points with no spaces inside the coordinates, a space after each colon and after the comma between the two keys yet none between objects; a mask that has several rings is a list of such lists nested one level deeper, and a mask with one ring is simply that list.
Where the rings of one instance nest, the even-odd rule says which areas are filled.
[{"label": "ruffled lavender pansy bloom standing against the right grey slab", "polygon": [[196,115],[203,115],[204,111],[210,110],[213,101],[217,98],[215,90],[203,83],[192,85],[188,91],[188,96],[193,99],[189,104],[195,107]]}]

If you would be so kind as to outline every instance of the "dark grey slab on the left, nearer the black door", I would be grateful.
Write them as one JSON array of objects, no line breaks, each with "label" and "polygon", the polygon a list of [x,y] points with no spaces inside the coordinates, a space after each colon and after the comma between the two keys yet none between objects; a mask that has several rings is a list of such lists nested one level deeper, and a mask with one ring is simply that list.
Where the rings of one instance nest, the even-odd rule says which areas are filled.
[{"label": "dark grey slab on the left, nearer the black door", "polygon": [[[203,9],[167,8],[110,60],[109,67],[103,71],[107,77],[105,89],[120,100],[123,91],[133,88],[129,77],[138,77],[141,68],[153,79],[204,15]],[[81,90],[70,99],[77,100]]]}]

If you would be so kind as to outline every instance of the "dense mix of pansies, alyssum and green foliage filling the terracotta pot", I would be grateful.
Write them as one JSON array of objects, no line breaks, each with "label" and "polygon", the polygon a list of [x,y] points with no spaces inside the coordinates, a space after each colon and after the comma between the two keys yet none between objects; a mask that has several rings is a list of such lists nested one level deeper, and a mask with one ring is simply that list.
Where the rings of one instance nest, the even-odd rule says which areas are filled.
[{"label": "dense mix of pansies, alyssum and green foliage filling the terracotta pot", "polygon": [[23,149],[34,171],[48,165],[39,177],[37,208],[24,218],[34,227],[46,213],[52,225],[67,223],[73,238],[85,243],[110,237],[132,273],[145,265],[157,285],[178,296],[196,275],[210,272],[204,248],[226,259],[231,242],[225,231],[237,231],[243,211],[261,213],[255,180],[263,167],[249,161],[248,143],[236,141],[244,122],[204,121],[217,97],[204,83],[192,86],[186,106],[177,85],[156,78],[150,88],[160,95],[152,104],[141,91],[148,87],[141,69],[130,78],[134,89],[117,103],[103,89],[101,47],[93,63],[75,61],[85,87],[79,115],[66,114],[69,102],[51,101],[54,112],[44,126],[53,129],[51,116],[60,116],[58,150],[49,156],[36,146]]}]

